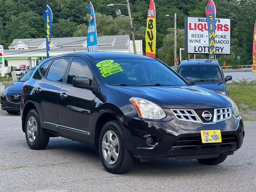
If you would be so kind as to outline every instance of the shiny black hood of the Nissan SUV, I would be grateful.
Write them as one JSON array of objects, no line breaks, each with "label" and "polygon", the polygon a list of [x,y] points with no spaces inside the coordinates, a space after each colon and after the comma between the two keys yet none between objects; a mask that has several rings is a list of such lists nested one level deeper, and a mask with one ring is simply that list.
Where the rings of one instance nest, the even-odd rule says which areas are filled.
[{"label": "shiny black hood of the Nissan SUV", "polygon": [[197,86],[116,88],[134,97],[150,100],[162,108],[210,109],[232,106],[226,96]]}]

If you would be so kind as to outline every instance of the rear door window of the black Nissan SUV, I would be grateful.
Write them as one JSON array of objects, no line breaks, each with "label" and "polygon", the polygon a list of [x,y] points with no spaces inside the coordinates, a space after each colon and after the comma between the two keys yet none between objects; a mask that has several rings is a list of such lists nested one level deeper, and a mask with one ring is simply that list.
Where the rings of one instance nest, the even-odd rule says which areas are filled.
[{"label": "rear door window of the black Nissan SUV", "polygon": [[56,59],[48,70],[47,77],[50,80],[62,82],[66,67],[68,66],[70,58]]}]

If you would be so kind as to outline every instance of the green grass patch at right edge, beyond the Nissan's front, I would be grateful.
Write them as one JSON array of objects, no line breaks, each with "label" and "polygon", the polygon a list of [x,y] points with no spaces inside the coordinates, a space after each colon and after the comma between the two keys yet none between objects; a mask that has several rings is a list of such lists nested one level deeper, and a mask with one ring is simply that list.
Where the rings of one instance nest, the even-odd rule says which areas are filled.
[{"label": "green grass patch at right edge, beyond the Nissan's front", "polygon": [[236,102],[244,120],[256,120],[256,83],[246,80],[227,84],[230,98]]}]

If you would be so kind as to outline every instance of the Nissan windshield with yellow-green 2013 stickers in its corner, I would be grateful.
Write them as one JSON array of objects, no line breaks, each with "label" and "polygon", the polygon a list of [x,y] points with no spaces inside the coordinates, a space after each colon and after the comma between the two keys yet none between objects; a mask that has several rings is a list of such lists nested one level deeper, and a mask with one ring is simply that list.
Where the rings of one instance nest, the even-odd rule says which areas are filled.
[{"label": "Nissan windshield with yellow-green 2013 stickers in its corner", "polygon": [[104,80],[115,86],[187,86],[157,60],[111,58],[94,61]]}]

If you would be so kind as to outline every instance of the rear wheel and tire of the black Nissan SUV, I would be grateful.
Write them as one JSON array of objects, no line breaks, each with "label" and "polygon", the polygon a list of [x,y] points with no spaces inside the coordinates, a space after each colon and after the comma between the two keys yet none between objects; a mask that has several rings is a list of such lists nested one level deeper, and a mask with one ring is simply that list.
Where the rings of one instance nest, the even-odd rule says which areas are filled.
[{"label": "rear wheel and tire of the black Nissan SUV", "polygon": [[33,150],[44,149],[48,145],[50,137],[40,126],[38,112],[34,109],[28,112],[25,123],[25,136],[28,146]]}]

